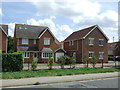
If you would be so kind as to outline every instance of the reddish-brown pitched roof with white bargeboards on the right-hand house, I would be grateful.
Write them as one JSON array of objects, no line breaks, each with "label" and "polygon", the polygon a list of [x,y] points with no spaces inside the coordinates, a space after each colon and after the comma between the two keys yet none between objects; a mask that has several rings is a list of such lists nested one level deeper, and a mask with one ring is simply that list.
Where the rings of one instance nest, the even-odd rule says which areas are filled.
[{"label": "reddish-brown pitched roof with white bargeboards on the right-hand house", "polygon": [[[78,30],[76,32],[73,32],[70,36],[68,36],[64,41],[69,41],[69,40],[76,40],[76,39],[84,39],[87,35],[89,35],[95,28],[98,27],[98,25],[93,25],[88,28]],[[101,30],[100,30],[101,31]],[[102,31],[101,31],[102,32]],[[102,32],[103,33],[103,32]],[[103,33],[103,35],[106,37],[106,35]],[[107,37],[106,37],[107,38]],[[108,39],[108,38],[107,38]]]}]

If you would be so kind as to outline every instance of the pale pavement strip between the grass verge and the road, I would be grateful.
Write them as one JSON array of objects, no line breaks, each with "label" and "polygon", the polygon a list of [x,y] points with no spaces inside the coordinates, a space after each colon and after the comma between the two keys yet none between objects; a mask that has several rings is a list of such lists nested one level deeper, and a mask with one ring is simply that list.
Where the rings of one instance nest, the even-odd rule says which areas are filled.
[{"label": "pale pavement strip between the grass verge and the road", "polygon": [[27,86],[33,85],[36,82],[40,84],[62,83],[62,82],[74,82],[84,80],[95,80],[103,78],[119,77],[118,72],[112,73],[97,73],[97,74],[82,74],[72,76],[50,76],[50,77],[36,77],[36,78],[23,78],[23,79],[1,79],[2,84],[0,87],[13,87],[13,86]]}]

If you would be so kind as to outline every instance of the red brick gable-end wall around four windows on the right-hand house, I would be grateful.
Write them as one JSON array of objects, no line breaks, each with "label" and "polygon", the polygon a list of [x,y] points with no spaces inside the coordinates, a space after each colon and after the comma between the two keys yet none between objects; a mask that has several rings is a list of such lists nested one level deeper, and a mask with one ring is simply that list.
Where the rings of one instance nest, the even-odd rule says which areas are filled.
[{"label": "red brick gable-end wall around four windows on the right-hand house", "polygon": [[[94,38],[93,46],[89,46],[89,38]],[[104,39],[104,46],[99,46],[99,39]],[[88,57],[89,51],[94,51],[98,62],[101,62],[101,60],[99,60],[99,52],[104,52],[104,62],[108,62],[107,39],[98,29],[94,30],[84,40],[84,55]]]}]

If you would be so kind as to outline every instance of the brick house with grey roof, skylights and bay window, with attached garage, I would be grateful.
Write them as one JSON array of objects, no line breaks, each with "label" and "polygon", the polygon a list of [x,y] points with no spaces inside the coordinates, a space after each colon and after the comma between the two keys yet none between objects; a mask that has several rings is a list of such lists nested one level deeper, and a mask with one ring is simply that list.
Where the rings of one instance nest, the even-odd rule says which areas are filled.
[{"label": "brick house with grey roof, skylights and bay window, with attached garage", "polygon": [[24,62],[48,62],[52,54],[56,62],[58,57],[65,53],[46,26],[15,24],[14,44],[15,51],[24,53]]}]

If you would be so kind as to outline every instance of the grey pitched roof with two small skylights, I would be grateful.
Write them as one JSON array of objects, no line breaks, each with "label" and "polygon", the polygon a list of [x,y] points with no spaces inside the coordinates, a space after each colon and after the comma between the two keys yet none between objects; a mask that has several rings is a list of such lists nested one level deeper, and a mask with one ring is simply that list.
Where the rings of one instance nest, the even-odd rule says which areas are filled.
[{"label": "grey pitched roof with two small skylights", "polygon": [[17,38],[29,38],[29,39],[37,39],[42,32],[47,29],[46,26],[34,26],[34,25],[26,25],[26,24],[16,24],[16,37]]}]

